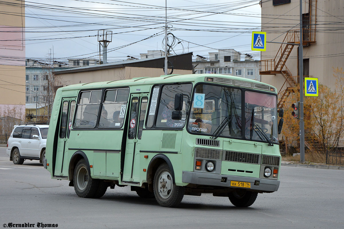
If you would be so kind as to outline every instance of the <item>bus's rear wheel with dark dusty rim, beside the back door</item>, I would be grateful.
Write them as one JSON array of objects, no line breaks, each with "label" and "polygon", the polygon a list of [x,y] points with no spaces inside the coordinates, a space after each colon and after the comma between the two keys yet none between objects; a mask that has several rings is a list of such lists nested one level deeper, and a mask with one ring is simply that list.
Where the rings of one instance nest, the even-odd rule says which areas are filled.
[{"label": "bus's rear wheel with dark dusty rim, beside the back door", "polygon": [[74,190],[80,197],[92,198],[96,195],[99,181],[92,179],[85,159],[81,159],[74,169]]}]

